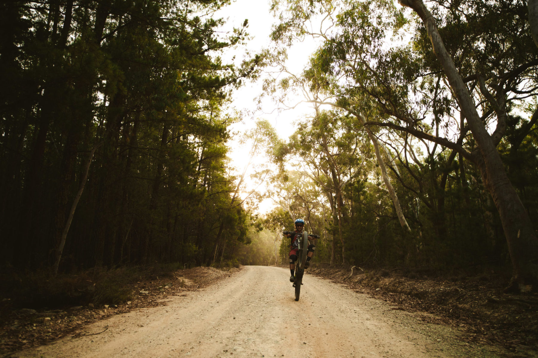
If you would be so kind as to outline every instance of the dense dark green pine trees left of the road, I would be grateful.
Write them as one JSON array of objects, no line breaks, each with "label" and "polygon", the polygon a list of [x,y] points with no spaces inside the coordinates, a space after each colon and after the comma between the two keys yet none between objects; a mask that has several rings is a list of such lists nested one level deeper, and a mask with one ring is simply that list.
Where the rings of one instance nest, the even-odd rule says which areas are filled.
[{"label": "dense dark green pine trees left of the road", "polygon": [[236,119],[221,108],[264,55],[223,63],[247,35],[246,23],[217,31],[223,20],[207,14],[226,3],[2,3],[1,264],[52,263],[98,144],[63,271],[209,264],[224,237],[248,242],[226,157]]}]

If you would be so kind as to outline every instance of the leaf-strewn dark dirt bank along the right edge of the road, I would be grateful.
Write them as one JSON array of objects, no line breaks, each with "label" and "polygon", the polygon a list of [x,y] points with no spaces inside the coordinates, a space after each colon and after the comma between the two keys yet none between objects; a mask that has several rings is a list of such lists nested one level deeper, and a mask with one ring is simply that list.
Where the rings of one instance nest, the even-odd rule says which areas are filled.
[{"label": "leaf-strewn dark dirt bank along the right edge of the road", "polygon": [[538,357],[538,295],[505,294],[507,281],[492,271],[439,275],[314,264],[309,274],[414,312],[422,322],[459,327],[462,341],[471,345],[497,346],[508,357]]}]

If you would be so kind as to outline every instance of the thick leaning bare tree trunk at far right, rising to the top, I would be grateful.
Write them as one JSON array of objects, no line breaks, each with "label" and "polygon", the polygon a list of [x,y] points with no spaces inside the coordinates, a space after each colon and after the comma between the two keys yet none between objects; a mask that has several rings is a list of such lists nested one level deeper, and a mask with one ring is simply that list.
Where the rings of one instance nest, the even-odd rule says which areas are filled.
[{"label": "thick leaning bare tree trunk at far right, rising to the top", "polygon": [[447,75],[452,91],[458,99],[461,111],[478,145],[479,156],[476,156],[476,162],[484,184],[499,211],[512,259],[513,275],[509,289],[536,290],[538,289],[538,238],[523,203],[508,179],[499,152],[480,120],[475,103],[459,76],[454,61],[444,47],[431,13],[421,0],[399,0],[399,2],[401,5],[412,8],[426,26],[434,53]]}]

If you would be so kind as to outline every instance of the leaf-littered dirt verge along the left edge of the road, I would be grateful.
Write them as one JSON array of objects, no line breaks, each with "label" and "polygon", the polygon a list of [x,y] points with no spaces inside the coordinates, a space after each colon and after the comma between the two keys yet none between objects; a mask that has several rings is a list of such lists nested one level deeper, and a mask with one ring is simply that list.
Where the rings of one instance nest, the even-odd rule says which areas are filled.
[{"label": "leaf-littered dirt verge along the left edge of the road", "polygon": [[[197,291],[240,271],[240,268],[220,270],[213,267],[195,267],[161,272],[165,273],[164,276],[154,275],[153,271],[150,267],[147,272],[143,271],[143,276],[138,277],[138,282],[134,278],[129,280],[130,283],[117,286],[117,289],[130,291],[129,298],[117,305],[105,302],[108,304],[68,305],[55,309],[25,305],[20,308],[16,298],[0,297],[0,358],[28,347],[81,334],[86,325],[110,316],[166,305],[167,297]],[[95,283],[90,281],[88,286]]]}]

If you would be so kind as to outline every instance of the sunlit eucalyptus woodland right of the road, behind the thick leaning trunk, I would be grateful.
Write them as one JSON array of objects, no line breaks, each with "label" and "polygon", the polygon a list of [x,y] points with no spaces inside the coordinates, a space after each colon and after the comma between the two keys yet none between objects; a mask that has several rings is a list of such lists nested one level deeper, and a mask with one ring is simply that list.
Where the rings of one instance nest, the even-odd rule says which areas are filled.
[{"label": "sunlit eucalyptus woodland right of the road, behind the thick leaning trunk", "polygon": [[[537,52],[526,4],[457,0],[426,6],[536,222]],[[309,91],[309,101],[334,108],[316,107],[313,119],[303,120],[286,155],[307,169],[302,181],[292,172],[291,184],[279,184],[281,198],[303,195],[311,184],[322,193],[298,203],[309,208],[315,202],[317,213],[324,213],[317,257],[435,269],[505,265],[506,239],[479,171],[479,149],[422,21],[383,0],[275,0],[273,10],[280,19],[273,31],[280,47],[275,64],[295,41],[321,41],[305,70],[280,78],[281,86],[275,83],[269,93]],[[382,147],[410,233],[396,220],[366,130]]]}]

